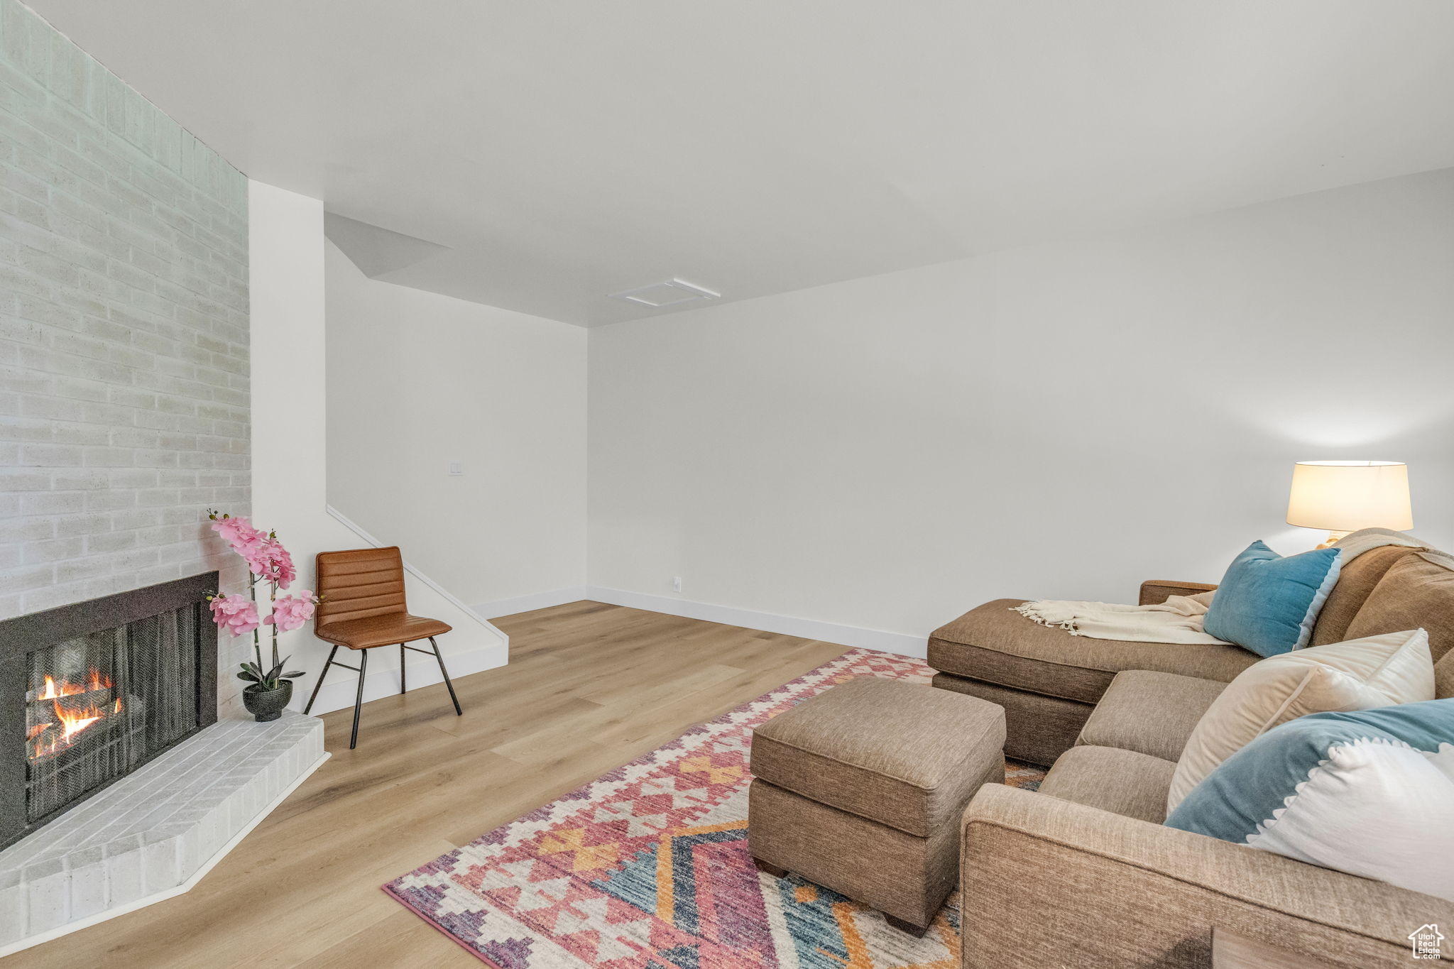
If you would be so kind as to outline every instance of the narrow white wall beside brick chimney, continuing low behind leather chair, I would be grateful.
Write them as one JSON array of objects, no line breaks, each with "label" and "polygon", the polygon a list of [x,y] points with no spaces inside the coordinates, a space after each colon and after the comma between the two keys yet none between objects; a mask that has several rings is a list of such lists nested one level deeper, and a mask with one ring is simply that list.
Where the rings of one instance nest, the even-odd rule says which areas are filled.
[{"label": "narrow white wall beside brick chimney, continuing low behind leather chair", "polygon": [[[368,545],[327,511],[323,203],[252,182],[249,211],[253,522],[278,530],[298,565],[300,585],[316,588],[314,555]],[[358,522],[372,527],[366,519]],[[505,664],[507,639],[497,629],[414,575],[406,580],[406,596],[410,612],[454,626],[439,638],[452,677]],[[313,636],[311,626],[285,635],[284,651],[294,655],[289,665],[308,671],[294,686],[292,706],[302,709],[327,644]],[[375,655],[381,660],[371,664],[365,699],[398,690],[394,654]],[[441,681],[432,657],[409,658],[411,689]],[[353,673],[332,671],[314,712],[352,706],[355,686]]]}]

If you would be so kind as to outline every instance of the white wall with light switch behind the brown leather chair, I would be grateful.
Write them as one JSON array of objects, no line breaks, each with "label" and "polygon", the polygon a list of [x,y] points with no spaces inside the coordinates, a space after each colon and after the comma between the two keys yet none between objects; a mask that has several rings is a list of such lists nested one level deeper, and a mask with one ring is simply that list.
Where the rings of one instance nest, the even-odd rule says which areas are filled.
[{"label": "white wall with light switch behind the brown leather chair", "polygon": [[329,501],[486,615],[580,599],[586,330],[368,279],[326,247]]}]

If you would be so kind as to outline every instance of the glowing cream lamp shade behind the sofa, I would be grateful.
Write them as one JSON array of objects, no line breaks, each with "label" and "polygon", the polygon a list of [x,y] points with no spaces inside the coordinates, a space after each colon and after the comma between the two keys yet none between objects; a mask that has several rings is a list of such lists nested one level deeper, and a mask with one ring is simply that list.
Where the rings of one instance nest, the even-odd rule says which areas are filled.
[{"label": "glowing cream lamp shade behind the sofa", "polygon": [[1293,465],[1287,523],[1329,532],[1412,529],[1409,466],[1397,461],[1300,461]]}]

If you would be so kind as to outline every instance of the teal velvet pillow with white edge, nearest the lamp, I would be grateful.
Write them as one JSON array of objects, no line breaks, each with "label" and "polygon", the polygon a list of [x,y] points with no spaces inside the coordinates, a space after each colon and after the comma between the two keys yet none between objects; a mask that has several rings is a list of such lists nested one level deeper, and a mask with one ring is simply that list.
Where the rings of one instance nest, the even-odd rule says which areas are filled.
[{"label": "teal velvet pillow with white edge, nearest the lamp", "polygon": [[1233,559],[1202,629],[1259,657],[1301,649],[1338,581],[1342,549],[1278,555],[1261,540]]}]

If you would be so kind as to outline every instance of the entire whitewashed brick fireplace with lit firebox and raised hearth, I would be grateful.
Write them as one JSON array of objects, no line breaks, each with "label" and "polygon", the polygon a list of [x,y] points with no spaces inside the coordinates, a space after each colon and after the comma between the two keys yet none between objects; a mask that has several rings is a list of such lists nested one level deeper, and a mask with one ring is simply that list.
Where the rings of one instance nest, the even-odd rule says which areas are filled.
[{"label": "entire whitewashed brick fireplace with lit firebox and raised hearth", "polygon": [[327,754],[199,606],[246,575],[247,179],[23,3],[0,41],[3,957],[188,891]]}]

